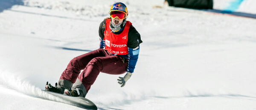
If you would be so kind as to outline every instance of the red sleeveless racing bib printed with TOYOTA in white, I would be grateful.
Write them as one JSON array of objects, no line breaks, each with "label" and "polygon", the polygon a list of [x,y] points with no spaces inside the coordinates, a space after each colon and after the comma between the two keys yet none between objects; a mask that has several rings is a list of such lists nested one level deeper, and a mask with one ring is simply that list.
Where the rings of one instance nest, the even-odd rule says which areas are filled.
[{"label": "red sleeveless racing bib printed with TOYOTA in white", "polygon": [[128,31],[131,26],[131,22],[126,21],[125,28],[122,33],[116,35],[111,32],[109,27],[111,19],[106,20],[106,27],[104,31],[104,40],[105,40],[105,49],[108,52],[111,52],[114,55],[127,55],[128,54],[128,47],[127,47],[127,40],[128,40]]}]

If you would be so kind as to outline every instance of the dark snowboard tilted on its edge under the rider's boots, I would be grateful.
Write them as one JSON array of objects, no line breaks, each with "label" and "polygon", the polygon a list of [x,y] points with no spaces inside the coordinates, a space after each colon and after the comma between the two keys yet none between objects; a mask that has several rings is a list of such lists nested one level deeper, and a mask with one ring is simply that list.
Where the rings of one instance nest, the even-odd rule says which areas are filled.
[{"label": "dark snowboard tilted on its edge under the rider's boots", "polygon": [[67,95],[63,95],[61,93],[55,93],[55,92],[51,92],[51,91],[45,91],[42,90],[46,93],[49,93],[53,96],[59,97],[65,101],[70,102],[71,105],[76,105],[77,107],[81,107],[81,108],[85,108],[85,109],[90,109],[90,110],[97,110],[97,106],[90,101],[89,99],[86,99],[84,97],[73,97],[73,96],[67,96]]}]

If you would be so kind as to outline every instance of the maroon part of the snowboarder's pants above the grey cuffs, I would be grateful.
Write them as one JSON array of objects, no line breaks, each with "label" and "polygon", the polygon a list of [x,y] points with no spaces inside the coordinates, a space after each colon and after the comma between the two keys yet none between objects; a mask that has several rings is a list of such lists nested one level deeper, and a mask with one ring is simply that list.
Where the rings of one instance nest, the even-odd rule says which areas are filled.
[{"label": "maroon part of the snowboarder's pants above the grey cuffs", "polygon": [[75,83],[78,78],[88,92],[100,72],[123,74],[126,72],[127,65],[128,63],[124,63],[121,57],[112,55],[107,50],[98,49],[73,58],[60,79]]}]

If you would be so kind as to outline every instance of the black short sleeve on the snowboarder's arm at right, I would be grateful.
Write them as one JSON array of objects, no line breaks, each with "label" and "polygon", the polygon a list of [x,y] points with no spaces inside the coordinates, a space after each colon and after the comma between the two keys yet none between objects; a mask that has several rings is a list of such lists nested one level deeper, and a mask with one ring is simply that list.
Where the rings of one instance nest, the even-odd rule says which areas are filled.
[{"label": "black short sleeve on the snowboarder's arm at right", "polygon": [[131,25],[128,31],[128,43],[127,46],[129,48],[136,48],[142,43],[143,41],[140,38],[140,33]]}]

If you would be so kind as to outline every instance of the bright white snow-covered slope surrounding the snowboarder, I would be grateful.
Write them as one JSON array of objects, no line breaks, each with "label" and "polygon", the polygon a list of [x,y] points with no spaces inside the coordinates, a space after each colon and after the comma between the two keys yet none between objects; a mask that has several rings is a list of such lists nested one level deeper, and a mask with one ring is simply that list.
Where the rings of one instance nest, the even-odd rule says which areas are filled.
[{"label": "bright white snow-covered slope surrounding the snowboarder", "polygon": [[[119,1],[143,43],[125,87],[117,83],[124,74],[99,74],[86,96],[99,110],[256,110],[256,19]],[[0,0],[0,109],[84,110],[41,89],[72,58],[99,48],[99,24],[115,2]],[[256,14],[255,5],[244,0],[236,11]]]}]

